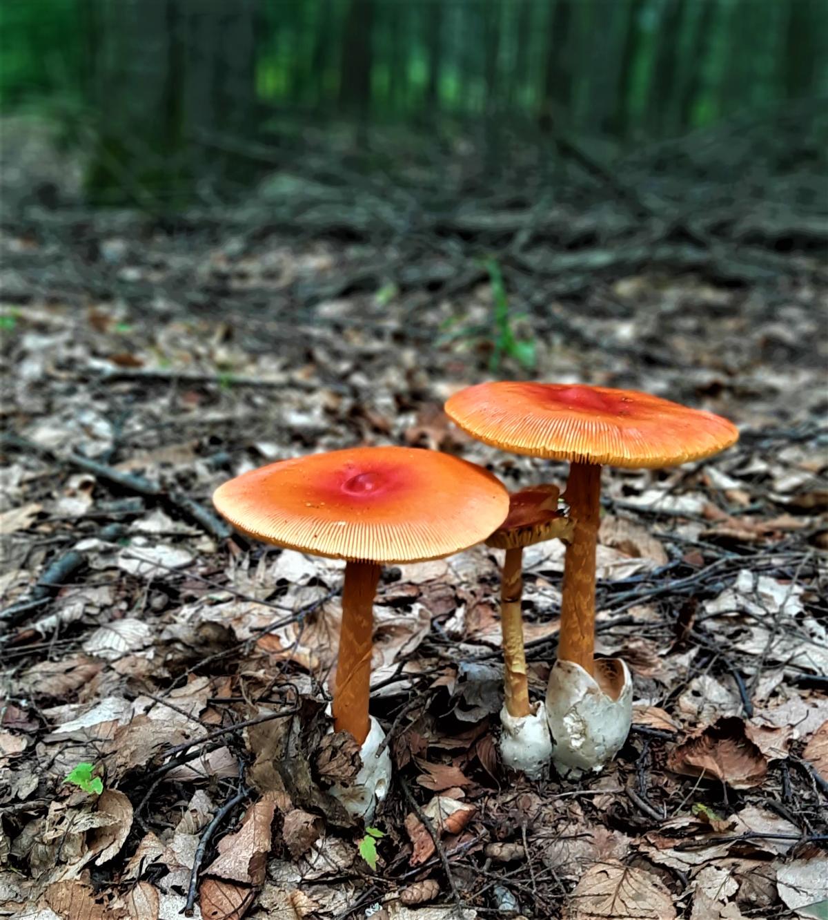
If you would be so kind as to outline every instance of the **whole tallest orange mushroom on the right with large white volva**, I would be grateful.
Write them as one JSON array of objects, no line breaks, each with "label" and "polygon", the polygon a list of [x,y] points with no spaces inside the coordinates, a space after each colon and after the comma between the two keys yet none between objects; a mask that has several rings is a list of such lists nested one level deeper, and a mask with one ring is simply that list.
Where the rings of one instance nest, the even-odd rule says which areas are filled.
[{"label": "whole tallest orange mushroom on the right with large white volva", "polygon": [[446,411],[479,440],[516,454],[570,461],[558,660],[546,697],[552,759],[561,773],[600,769],[624,743],[632,680],[618,659],[595,661],[595,546],[601,466],[675,466],[735,443],[732,422],[635,390],[488,383],[448,400]]}]

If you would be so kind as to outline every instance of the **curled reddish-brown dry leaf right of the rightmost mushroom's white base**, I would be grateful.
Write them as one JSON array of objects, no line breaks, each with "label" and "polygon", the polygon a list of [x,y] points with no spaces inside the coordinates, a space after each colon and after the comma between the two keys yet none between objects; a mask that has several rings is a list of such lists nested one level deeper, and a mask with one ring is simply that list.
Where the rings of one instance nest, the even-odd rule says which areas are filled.
[{"label": "curled reddish-brown dry leaf right of the rightmost mushroom's white base", "polygon": [[682,776],[720,779],[734,789],[759,786],[767,776],[764,754],[734,716],[717,719],[670,752],[667,766]]}]

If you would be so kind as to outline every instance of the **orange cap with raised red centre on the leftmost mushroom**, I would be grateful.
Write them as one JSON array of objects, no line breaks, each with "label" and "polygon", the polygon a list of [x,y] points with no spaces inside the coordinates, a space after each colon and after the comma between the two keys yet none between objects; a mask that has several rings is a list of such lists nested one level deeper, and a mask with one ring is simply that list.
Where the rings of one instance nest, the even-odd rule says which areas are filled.
[{"label": "orange cap with raised red centre on the leftmost mushroom", "polygon": [[411,447],[355,447],[251,470],[213,493],[244,534],[317,556],[417,562],[480,543],[509,496],[481,466]]}]

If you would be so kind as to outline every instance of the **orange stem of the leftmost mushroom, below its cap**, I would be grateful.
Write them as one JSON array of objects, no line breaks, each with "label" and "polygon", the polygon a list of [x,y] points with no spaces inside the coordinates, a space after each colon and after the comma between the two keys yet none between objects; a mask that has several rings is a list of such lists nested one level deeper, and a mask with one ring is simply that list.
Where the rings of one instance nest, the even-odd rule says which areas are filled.
[{"label": "orange stem of the leftmost mushroom, below its cap", "polygon": [[347,562],[342,589],[342,627],[336,665],[335,731],[350,731],[362,744],[369,730],[371,639],[374,632],[374,594],[380,567],[373,562]]}]

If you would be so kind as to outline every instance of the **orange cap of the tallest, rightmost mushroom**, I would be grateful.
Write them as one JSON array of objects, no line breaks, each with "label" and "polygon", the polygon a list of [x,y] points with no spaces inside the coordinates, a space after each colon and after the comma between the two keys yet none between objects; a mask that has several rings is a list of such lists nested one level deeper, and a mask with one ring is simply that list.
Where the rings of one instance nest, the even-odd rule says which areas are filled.
[{"label": "orange cap of the tallest, rightmost mushroom", "polygon": [[515,454],[610,466],[675,466],[730,447],[736,426],[637,390],[489,383],[446,403],[463,431]]}]

